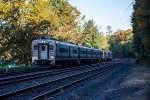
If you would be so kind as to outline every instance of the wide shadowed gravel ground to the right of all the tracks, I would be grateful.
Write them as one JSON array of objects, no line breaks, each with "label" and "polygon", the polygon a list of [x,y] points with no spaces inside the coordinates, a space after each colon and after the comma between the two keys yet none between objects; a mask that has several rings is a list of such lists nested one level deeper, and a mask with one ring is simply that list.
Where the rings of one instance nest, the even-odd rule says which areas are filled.
[{"label": "wide shadowed gravel ground to the right of all the tracks", "polygon": [[131,59],[108,73],[64,89],[49,100],[150,100],[150,68]]}]

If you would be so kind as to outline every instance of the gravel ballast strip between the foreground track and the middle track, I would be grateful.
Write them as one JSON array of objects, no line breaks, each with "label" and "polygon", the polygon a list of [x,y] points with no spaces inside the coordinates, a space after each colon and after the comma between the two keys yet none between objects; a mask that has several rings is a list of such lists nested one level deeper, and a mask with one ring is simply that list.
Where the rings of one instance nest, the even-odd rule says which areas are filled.
[{"label": "gravel ballast strip between the foreground track and the middle track", "polygon": [[60,79],[63,77],[68,77],[69,75],[73,75],[73,74],[77,74],[77,73],[83,73],[83,71],[88,71],[91,69],[97,69],[97,68],[101,68],[101,67],[104,67],[104,66],[93,65],[90,68],[83,68],[80,70],[77,69],[77,70],[73,70],[73,71],[69,71],[69,72],[64,72],[61,74],[50,75],[47,77],[35,78],[33,80],[9,84],[9,85],[0,87],[0,94],[4,95],[6,93],[11,93],[11,92],[16,91],[16,90],[21,91],[24,88],[29,88],[29,87],[31,88],[31,87],[33,87],[33,85],[48,83],[48,82],[51,82],[52,80]]}]

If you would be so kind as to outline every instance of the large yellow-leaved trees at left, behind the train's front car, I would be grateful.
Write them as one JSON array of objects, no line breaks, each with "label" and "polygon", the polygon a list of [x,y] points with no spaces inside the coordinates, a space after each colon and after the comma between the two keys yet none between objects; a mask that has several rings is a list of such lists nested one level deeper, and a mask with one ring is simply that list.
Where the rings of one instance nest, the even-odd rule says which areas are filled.
[{"label": "large yellow-leaved trees at left, behind the train's front car", "polygon": [[64,0],[0,2],[0,59],[31,62],[31,42],[40,36],[78,42],[80,12]]}]

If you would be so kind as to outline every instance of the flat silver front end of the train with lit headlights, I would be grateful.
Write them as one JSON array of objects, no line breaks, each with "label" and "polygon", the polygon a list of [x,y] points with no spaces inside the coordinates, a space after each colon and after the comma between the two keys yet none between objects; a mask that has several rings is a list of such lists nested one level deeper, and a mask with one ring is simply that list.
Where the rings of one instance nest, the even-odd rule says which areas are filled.
[{"label": "flat silver front end of the train with lit headlights", "polygon": [[37,40],[32,43],[32,64],[55,66],[55,42],[50,40]]}]

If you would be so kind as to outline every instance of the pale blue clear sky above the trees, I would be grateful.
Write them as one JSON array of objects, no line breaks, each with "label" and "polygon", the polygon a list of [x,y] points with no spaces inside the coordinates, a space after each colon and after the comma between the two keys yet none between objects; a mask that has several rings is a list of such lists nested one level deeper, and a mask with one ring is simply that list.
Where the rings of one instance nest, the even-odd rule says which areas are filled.
[{"label": "pale blue clear sky above the trees", "polygon": [[113,32],[117,29],[132,28],[132,2],[133,0],[69,0],[81,15],[86,16],[86,21],[93,19],[104,34],[108,25],[112,27]]}]

